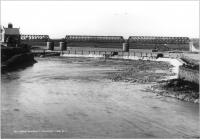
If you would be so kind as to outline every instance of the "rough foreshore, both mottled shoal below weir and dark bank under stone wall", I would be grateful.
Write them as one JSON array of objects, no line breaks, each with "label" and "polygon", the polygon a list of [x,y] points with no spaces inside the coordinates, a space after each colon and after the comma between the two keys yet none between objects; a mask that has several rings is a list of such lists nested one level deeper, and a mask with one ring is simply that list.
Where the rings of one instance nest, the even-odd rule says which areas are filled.
[{"label": "rough foreshore, both mottled shoal below weir and dark bank under stone wall", "polygon": [[124,81],[138,84],[152,84],[146,91],[179,100],[199,103],[199,85],[180,79],[169,79],[174,76],[172,65],[167,62],[128,60],[126,67],[118,72],[109,73],[112,81]]}]

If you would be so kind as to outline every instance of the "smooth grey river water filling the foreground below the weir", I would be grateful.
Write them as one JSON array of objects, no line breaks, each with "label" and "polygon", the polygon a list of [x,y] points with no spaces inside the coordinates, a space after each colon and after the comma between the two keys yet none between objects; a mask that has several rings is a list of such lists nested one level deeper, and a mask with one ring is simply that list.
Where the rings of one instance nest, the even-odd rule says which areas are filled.
[{"label": "smooth grey river water filling the foreground below the weir", "polygon": [[[198,137],[199,105],[112,82],[119,60],[44,58],[1,76],[2,137]],[[121,65],[123,66],[123,65]]]}]

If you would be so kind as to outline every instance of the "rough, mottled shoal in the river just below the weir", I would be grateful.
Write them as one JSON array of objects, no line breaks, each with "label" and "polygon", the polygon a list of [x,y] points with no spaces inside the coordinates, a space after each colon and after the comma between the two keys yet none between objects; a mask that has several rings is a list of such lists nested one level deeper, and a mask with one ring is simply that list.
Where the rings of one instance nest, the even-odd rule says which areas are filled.
[{"label": "rough, mottled shoal in the river just below the weir", "polygon": [[[165,62],[133,60],[124,63],[117,72],[109,73],[108,78],[112,81],[124,81],[131,83],[151,83],[164,79],[173,73],[172,66]],[[157,72],[158,71],[158,72]]]}]

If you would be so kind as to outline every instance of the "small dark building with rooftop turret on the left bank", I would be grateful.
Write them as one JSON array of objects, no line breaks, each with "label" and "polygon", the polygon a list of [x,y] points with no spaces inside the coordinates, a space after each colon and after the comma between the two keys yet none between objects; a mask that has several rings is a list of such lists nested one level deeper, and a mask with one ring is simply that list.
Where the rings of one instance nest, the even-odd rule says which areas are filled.
[{"label": "small dark building with rooftop turret on the left bank", "polygon": [[13,28],[11,23],[8,27],[1,27],[0,29],[0,42],[10,47],[17,47],[20,43],[20,31],[19,28]]}]

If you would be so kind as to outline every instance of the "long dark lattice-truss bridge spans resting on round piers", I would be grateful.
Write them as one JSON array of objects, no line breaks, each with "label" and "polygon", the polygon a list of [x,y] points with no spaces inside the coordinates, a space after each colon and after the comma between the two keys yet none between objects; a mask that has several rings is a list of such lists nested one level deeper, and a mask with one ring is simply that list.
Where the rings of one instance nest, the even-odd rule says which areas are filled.
[{"label": "long dark lattice-truss bridge spans resting on round piers", "polygon": [[59,46],[60,42],[67,47],[95,47],[95,48],[122,48],[127,43],[130,49],[158,49],[164,51],[189,51],[188,37],[162,37],[162,36],[130,36],[127,40],[123,36],[90,36],[66,35],[65,38],[51,39],[49,35],[21,35],[21,41],[31,45],[46,46],[46,42],[53,42]]}]

